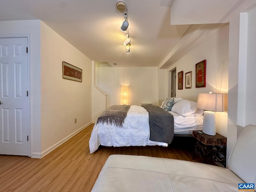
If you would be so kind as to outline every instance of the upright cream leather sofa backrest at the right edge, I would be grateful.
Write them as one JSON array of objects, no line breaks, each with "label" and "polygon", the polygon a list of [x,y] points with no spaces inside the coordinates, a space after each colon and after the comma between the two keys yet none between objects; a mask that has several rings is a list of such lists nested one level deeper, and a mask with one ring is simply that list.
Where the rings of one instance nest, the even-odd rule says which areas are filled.
[{"label": "upright cream leather sofa backrest at the right edge", "polygon": [[228,168],[246,183],[256,186],[256,126],[246,126],[231,152]]}]

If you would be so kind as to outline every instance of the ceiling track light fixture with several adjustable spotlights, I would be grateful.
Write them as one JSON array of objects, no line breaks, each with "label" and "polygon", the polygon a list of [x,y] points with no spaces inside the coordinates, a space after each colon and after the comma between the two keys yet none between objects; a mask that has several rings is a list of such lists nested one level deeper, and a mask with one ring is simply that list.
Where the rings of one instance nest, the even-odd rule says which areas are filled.
[{"label": "ceiling track light fixture with several adjustable spotlights", "polygon": [[131,40],[130,40],[129,30],[128,30],[129,22],[128,22],[128,19],[127,19],[126,3],[124,1],[116,2],[116,9],[119,10],[120,12],[124,13],[124,22],[122,23],[122,26],[120,28],[121,28],[122,32],[126,32],[126,39],[124,40],[124,45],[126,46],[125,52],[127,54],[129,54],[130,53]]}]

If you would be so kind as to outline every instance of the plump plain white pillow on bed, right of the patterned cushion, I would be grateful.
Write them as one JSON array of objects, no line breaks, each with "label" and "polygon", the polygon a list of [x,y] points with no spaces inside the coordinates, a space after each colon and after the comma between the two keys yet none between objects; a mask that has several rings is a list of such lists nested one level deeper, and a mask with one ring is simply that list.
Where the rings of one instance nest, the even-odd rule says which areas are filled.
[{"label": "plump plain white pillow on bed, right of the patterned cushion", "polygon": [[171,111],[178,113],[182,116],[188,116],[196,112],[198,108],[196,107],[196,102],[182,99],[173,104]]}]

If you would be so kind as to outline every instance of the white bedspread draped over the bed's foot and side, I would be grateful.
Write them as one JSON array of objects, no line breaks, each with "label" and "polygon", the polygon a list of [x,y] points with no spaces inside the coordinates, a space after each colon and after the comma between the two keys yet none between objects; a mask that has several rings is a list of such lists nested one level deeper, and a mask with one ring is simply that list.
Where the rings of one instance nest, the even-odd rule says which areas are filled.
[{"label": "white bedspread draped over the bed's foot and side", "polygon": [[89,140],[90,153],[102,146],[168,146],[167,143],[149,140],[150,131],[148,124],[148,111],[132,105],[124,120],[123,127],[108,125],[106,123],[95,124]]}]

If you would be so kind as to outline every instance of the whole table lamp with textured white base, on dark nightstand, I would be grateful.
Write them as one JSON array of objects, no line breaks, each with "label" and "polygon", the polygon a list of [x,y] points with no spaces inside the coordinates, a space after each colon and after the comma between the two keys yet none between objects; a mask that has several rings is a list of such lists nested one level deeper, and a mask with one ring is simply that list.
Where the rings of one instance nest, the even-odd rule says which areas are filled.
[{"label": "whole table lamp with textured white base, on dark nightstand", "polygon": [[203,133],[216,135],[215,112],[224,112],[224,94],[200,93],[197,108],[204,111]]}]

